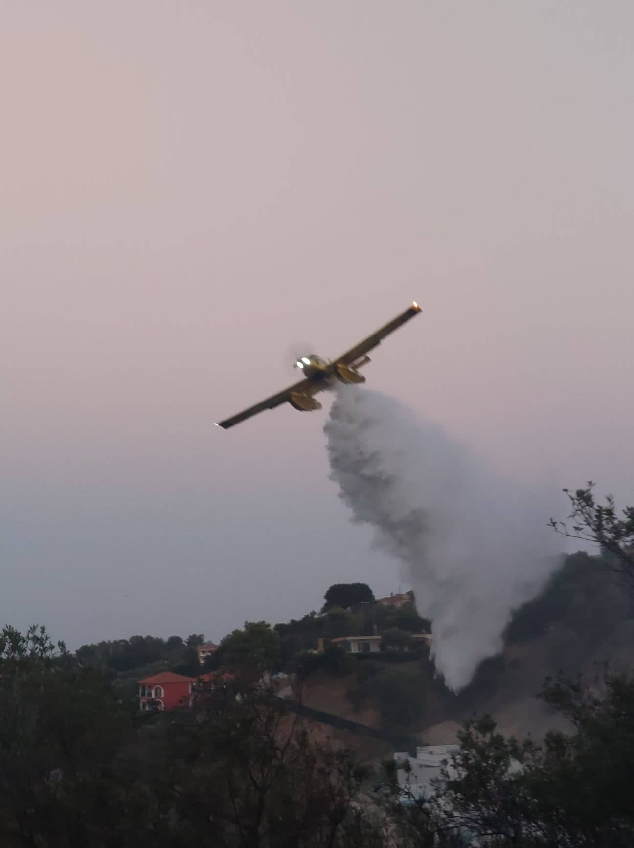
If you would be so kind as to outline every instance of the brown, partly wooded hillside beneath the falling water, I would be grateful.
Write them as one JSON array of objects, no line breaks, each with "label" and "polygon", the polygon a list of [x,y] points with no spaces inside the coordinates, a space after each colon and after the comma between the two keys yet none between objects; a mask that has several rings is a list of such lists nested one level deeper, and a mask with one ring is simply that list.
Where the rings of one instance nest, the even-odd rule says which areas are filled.
[{"label": "brown, partly wooded hillside beneath the falling water", "polygon": [[536,695],[547,676],[627,667],[634,649],[634,604],[600,557],[563,558],[541,594],[513,615],[501,656],[482,663],[457,695],[435,678],[427,656],[345,657],[304,683],[304,702],[377,728],[398,728],[439,744],[460,723],[489,712],[505,733],[541,737],[561,721]]}]

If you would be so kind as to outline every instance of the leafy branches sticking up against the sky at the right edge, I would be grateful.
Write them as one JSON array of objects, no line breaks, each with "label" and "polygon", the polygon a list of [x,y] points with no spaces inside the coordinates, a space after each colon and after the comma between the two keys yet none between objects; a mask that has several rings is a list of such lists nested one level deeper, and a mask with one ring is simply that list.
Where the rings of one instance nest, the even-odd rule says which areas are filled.
[{"label": "leafy branches sticking up against the sky at the right edge", "polygon": [[605,504],[598,503],[592,491],[594,485],[588,480],[586,488],[575,489],[575,492],[564,488],[572,505],[569,520],[574,523],[568,527],[566,522],[551,518],[550,526],[568,538],[601,545],[611,555],[609,565],[614,571],[634,583],[634,506],[626,506],[620,517],[611,494],[606,497]]}]

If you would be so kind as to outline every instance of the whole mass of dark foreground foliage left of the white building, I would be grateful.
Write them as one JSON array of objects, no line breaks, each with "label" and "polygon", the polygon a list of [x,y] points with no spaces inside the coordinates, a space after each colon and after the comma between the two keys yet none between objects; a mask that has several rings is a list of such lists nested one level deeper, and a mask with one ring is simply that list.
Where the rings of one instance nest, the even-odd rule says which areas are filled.
[{"label": "whole mass of dark foreground foliage left of the white building", "polygon": [[261,687],[132,712],[42,628],[5,628],[0,710],[3,848],[382,844],[356,801],[364,770]]}]

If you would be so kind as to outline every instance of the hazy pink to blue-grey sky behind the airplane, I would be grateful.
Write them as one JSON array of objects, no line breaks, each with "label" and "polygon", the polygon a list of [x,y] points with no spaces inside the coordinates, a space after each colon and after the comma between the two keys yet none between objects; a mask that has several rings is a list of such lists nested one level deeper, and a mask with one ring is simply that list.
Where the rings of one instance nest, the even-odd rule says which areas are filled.
[{"label": "hazy pink to blue-grey sky behind the airplane", "polygon": [[0,619],[220,639],[396,591],[323,412],[212,423],[412,298],[373,388],[523,483],[634,500],[633,28],[631,0],[0,2]]}]

